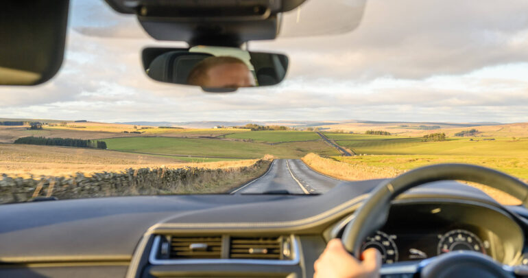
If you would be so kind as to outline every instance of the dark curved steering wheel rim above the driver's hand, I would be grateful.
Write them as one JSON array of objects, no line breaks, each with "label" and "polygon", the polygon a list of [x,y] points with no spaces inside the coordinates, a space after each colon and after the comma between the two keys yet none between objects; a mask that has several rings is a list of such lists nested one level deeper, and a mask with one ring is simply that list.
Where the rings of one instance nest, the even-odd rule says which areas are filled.
[{"label": "dark curved steering wheel rim above the driver's hand", "polygon": [[518,198],[528,208],[528,185],[503,172],[469,164],[437,164],[420,167],[378,185],[345,227],[341,241],[355,257],[361,244],[387,221],[390,202],[408,189],[433,181],[461,180],[488,185]]}]

